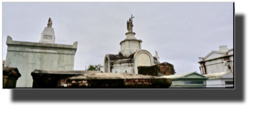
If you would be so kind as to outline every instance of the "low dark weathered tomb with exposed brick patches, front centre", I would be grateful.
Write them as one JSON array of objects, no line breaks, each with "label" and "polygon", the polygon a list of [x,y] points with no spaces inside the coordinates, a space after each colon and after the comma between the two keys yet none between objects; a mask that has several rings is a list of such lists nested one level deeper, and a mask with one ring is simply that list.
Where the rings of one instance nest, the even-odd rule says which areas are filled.
[{"label": "low dark weathered tomb with exposed brick patches, front centre", "polygon": [[171,79],[133,73],[88,73],[66,80],[63,87],[82,88],[141,88],[141,87],[170,87]]}]

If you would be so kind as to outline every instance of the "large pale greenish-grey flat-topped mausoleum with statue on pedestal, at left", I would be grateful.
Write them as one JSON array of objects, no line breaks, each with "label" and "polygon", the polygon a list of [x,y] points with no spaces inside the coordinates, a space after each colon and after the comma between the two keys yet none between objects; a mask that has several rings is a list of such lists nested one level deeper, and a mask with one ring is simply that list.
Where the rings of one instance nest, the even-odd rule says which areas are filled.
[{"label": "large pale greenish-grey flat-topped mausoleum with statue on pedestal, at left", "polygon": [[35,69],[73,70],[77,42],[72,45],[55,44],[53,22],[49,18],[39,42],[13,41],[7,36],[7,55],[4,67],[16,67],[22,75],[16,87],[32,87]]}]

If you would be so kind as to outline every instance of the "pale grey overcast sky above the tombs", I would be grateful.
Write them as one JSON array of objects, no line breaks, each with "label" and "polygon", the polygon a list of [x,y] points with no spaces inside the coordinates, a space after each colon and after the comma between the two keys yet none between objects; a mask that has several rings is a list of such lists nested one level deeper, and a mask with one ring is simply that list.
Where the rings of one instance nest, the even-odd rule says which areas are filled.
[{"label": "pale grey overcast sky above the tombs", "polygon": [[198,57],[219,46],[233,48],[233,3],[209,2],[1,2],[2,58],[6,39],[39,42],[48,19],[55,44],[78,42],[74,70],[103,65],[106,54],[118,54],[127,20],[133,18],[135,38],[160,63],[174,65],[177,74],[199,70]]}]

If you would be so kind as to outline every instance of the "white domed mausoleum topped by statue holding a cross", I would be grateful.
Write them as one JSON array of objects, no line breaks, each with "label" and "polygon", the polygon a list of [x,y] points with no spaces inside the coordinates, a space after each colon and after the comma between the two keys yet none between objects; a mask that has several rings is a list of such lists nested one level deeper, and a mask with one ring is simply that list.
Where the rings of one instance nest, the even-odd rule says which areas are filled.
[{"label": "white domed mausoleum topped by statue holding a cross", "polygon": [[148,50],[141,48],[142,40],[135,38],[133,32],[133,20],[127,21],[126,38],[120,42],[121,52],[119,54],[106,54],[104,57],[104,73],[135,73],[138,74],[137,67],[151,67],[160,64],[159,56],[156,52],[152,56]]}]

